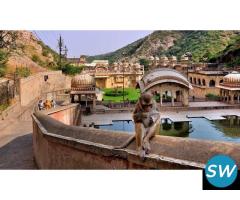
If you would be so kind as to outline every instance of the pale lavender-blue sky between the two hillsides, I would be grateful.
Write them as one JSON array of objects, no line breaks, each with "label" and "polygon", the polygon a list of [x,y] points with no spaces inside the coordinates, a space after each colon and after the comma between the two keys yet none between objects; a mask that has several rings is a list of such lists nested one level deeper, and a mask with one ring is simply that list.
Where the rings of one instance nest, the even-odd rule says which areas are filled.
[{"label": "pale lavender-blue sky between the two hillsides", "polygon": [[98,55],[115,51],[153,31],[33,31],[52,49],[57,50],[57,40],[61,35],[68,48],[68,57]]}]

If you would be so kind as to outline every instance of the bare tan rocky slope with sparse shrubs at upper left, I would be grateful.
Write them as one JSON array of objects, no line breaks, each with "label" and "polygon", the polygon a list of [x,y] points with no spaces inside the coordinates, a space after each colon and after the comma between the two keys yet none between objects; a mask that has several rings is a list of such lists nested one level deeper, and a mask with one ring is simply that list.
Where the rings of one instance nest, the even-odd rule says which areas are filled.
[{"label": "bare tan rocky slope with sparse shrubs at upper left", "polygon": [[[17,68],[27,67],[31,73],[54,69],[57,53],[39,41],[30,31],[16,31],[16,46],[11,50],[5,63],[6,74]],[[4,52],[4,49],[0,49]]]}]

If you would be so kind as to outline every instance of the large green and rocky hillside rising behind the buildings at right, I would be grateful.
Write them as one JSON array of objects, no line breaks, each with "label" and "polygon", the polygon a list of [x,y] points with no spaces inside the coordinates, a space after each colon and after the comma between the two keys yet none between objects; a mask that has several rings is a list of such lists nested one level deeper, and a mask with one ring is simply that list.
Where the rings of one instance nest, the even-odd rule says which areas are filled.
[{"label": "large green and rocky hillside rising behind the buildings at right", "polygon": [[[154,31],[152,34],[133,42],[115,52],[88,57],[108,59],[110,62],[127,57],[139,60],[151,55],[176,55],[180,57],[191,52],[193,60],[217,60],[227,49],[237,46],[240,31]],[[237,48],[237,47],[236,47]]]}]

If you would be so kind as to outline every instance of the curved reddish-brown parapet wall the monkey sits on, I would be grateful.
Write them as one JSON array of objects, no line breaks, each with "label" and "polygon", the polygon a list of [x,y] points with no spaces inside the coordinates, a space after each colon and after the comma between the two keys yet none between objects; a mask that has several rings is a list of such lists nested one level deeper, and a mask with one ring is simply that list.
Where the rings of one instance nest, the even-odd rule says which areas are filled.
[{"label": "curved reddish-brown parapet wall the monkey sits on", "polygon": [[[141,161],[134,141],[115,149],[131,135],[67,125],[54,119],[56,112],[32,116],[34,157],[41,169],[192,169],[203,168],[211,156],[220,153],[240,163],[239,144],[167,136],[154,137],[151,154]],[[59,112],[67,113],[64,108]]]}]

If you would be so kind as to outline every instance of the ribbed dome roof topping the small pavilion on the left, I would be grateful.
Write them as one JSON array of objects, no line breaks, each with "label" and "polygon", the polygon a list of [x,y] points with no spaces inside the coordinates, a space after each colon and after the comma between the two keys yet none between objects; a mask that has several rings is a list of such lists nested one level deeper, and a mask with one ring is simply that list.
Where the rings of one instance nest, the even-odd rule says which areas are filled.
[{"label": "ribbed dome roof topping the small pavilion on the left", "polygon": [[73,88],[84,87],[94,84],[95,80],[89,74],[79,74],[77,76],[74,76],[71,81],[71,87]]}]

